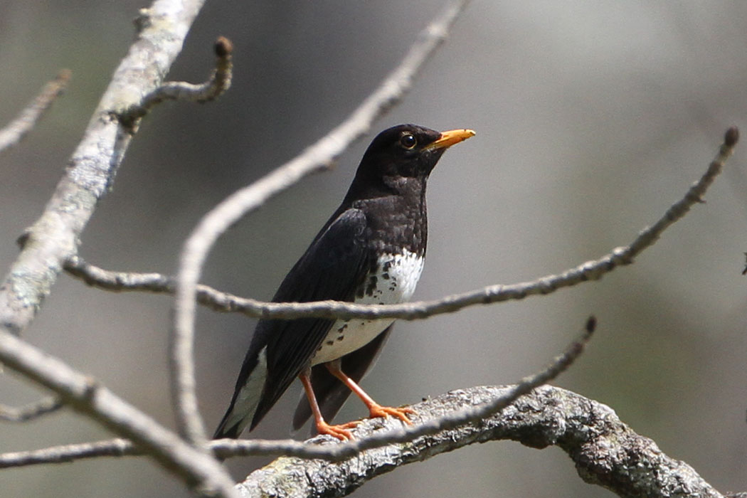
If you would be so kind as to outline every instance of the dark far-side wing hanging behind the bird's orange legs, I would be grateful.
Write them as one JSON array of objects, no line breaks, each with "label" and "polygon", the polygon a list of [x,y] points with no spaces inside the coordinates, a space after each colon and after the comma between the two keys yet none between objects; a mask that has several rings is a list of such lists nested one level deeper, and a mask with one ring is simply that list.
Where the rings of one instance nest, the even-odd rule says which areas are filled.
[{"label": "dark far-side wing hanging behind the bird's orange legs", "polygon": [[[341,358],[341,370],[350,379],[353,379],[356,384],[361,382],[363,376],[373,367],[376,359],[379,358],[379,353],[386,343],[393,326],[388,326],[384,332],[377,335],[370,343]],[[332,421],[332,417],[335,417],[337,412],[340,411],[347,396],[350,396],[350,393],[353,392],[340,382],[339,379],[329,373],[329,370],[324,365],[317,365],[311,369],[311,385],[314,386],[314,394],[317,395],[319,409],[322,412],[324,420],[327,422]],[[306,423],[306,420],[309,420],[309,417],[311,417],[309,400],[306,399],[306,396],[302,395],[296,407],[296,413],[293,416],[293,429],[300,429]],[[313,431],[313,424],[311,427]]]}]

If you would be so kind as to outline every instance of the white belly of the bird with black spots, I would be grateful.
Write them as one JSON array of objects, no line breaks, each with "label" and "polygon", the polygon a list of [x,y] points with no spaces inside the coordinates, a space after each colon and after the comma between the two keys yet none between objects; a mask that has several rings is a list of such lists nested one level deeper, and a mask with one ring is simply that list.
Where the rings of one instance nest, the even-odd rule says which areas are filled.
[{"label": "white belly of the bird with black spots", "polygon": [[[404,250],[401,255],[382,255],[377,263],[376,273],[362,286],[362,296],[356,295],[356,304],[391,305],[409,300],[423,271],[423,258]],[[392,322],[392,318],[337,320],[311,358],[311,365],[336,360],[365,346]]]}]

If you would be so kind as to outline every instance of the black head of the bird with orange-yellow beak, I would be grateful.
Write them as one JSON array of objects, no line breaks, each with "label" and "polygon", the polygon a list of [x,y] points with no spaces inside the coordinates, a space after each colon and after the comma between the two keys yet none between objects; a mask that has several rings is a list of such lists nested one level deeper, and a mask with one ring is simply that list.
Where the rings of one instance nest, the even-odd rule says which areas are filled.
[{"label": "black head of the bird with orange-yellow beak", "polygon": [[412,180],[425,180],[450,146],[474,136],[467,129],[436,131],[418,125],[397,125],[371,141],[358,166],[351,189],[400,189]]}]

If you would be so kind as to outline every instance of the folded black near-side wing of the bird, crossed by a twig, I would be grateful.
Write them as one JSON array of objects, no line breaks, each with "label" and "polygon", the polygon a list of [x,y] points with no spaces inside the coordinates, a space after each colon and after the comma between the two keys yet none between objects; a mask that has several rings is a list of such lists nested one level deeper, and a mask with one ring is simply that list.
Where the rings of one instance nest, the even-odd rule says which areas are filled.
[{"label": "folded black near-side wing of the bird, crossed by a twig", "polygon": [[[311,243],[288,272],[273,297],[275,302],[310,302],[323,299],[352,301],[371,267],[366,243],[367,221],[359,209],[341,212]],[[267,344],[267,380],[250,429],[309,365],[334,320],[262,320],[255,334]]]}]

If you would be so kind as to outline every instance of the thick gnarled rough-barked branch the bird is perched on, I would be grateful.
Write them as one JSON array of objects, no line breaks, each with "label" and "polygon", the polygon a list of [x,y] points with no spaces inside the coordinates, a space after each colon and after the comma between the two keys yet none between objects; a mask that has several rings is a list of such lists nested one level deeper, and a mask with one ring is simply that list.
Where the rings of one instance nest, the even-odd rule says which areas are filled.
[{"label": "thick gnarled rough-barked branch the bird is perched on", "polygon": [[[464,405],[503,396],[510,387],[473,387],[418,403],[418,421]],[[393,420],[366,420],[365,435],[392,429]],[[558,387],[539,387],[498,415],[471,426],[449,429],[412,443],[371,449],[342,463],[278,458],[249,474],[238,487],[251,497],[343,497],[369,479],[403,464],[422,461],[471,443],[510,439],[533,448],[560,446],[582,479],[620,497],[719,498],[718,491],[684,462],[665,455],[633,432],[601,403]]]}]

